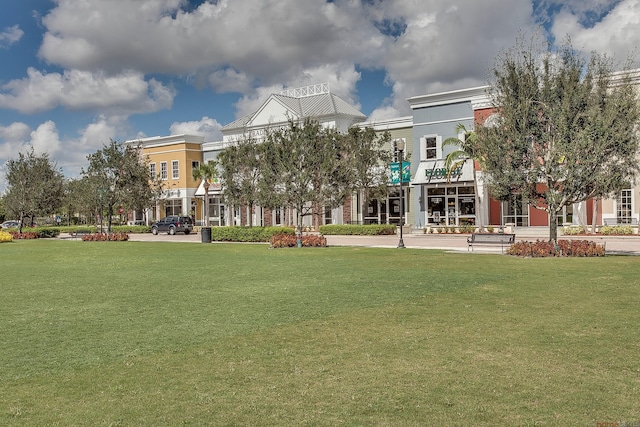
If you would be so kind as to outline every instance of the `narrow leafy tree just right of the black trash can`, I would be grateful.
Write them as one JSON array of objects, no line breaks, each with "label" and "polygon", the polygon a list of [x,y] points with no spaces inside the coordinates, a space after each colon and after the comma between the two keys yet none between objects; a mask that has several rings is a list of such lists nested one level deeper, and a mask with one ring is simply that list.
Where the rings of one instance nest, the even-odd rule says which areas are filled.
[{"label": "narrow leafy tree just right of the black trash can", "polygon": [[253,226],[254,206],[259,199],[260,165],[264,147],[254,138],[246,138],[227,147],[218,155],[223,197],[229,206],[249,208],[249,226]]}]

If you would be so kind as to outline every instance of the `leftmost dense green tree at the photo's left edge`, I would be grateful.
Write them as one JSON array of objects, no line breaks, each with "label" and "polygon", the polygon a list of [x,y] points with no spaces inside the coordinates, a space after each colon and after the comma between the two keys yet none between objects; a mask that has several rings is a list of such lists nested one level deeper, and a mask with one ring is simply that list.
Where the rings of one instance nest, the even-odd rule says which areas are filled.
[{"label": "leftmost dense green tree at the photo's left edge", "polygon": [[6,168],[4,202],[7,211],[19,218],[20,232],[25,218],[33,224],[36,215],[49,215],[60,207],[64,177],[47,153],[36,155],[31,147],[26,154],[18,153],[17,160],[9,160]]}]

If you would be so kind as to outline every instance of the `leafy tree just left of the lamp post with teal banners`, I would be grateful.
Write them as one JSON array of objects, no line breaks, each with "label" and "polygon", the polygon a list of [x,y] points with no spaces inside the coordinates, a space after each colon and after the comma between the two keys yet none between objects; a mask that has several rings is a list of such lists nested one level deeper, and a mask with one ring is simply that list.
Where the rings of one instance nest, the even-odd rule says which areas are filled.
[{"label": "leafy tree just left of the lamp post with teal banners", "polygon": [[343,168],[350,173],[355,191],[362,193],[362,212],[371,200],[387,197],[389,192],[388,165],[391,152],[385,149],[391,135],[384,132],[377,136],[373,128],[352,127],[345,137],[344,155],[348,163]]}]

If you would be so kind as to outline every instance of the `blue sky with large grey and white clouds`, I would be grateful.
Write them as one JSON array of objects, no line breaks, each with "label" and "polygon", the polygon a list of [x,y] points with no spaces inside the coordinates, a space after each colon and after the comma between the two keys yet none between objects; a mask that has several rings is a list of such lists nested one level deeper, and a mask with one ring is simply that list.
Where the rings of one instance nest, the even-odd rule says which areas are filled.
[{"label": "blue sky with large grey and white clouds", "polygon": [[0,0],[0,192],[33,147],[68,177],[111,139],[220,128],[328,82],[369,120],[481,86],[518,37],[638,58],[640,0]]}]

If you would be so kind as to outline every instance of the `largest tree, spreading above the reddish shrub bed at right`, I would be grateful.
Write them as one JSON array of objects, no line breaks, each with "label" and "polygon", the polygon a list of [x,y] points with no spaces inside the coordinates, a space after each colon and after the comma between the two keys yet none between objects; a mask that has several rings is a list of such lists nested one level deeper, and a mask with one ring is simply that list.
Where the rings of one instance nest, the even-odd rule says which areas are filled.
[{"label": "largest tree, spreading above the reddish shrub bed at right", "polygon": [[491,94],[495,120],[465,150],[482,158],[495,198],[548,213],[550,240],[563,207],[610,197],[638,173],[638,100],[606,56],[517,45],[494,67]]}]

